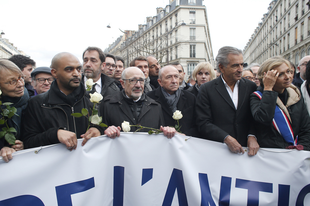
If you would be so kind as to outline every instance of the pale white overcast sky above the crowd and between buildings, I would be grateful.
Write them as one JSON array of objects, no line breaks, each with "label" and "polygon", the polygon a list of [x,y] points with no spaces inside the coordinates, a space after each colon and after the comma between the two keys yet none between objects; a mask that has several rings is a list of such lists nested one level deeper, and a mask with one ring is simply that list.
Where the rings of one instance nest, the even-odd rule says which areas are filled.
[{"label": "pale white overcast sky above the crowd and between buildings", "polygon": [[[213,56],[222,46],[243,49],[271,0],[204,0]],[[70,52],[82,62],[88,46],[102,50],[122,35],[122,30],[137,30],[147,16],[169,0],[0,0],[0,30],[24,51],[37,66],[50,66],[60,52]],[[110,24],[111,28],[106,26]]]}]

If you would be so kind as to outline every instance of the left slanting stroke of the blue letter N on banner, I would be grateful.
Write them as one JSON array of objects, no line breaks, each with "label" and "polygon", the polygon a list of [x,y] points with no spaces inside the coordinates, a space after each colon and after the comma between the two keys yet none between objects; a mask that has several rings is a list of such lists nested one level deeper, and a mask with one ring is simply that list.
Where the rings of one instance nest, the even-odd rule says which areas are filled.
[{"label": "left slanting stroke of the blue letter N on banner", "polygon": [[201,206],[209,206],[209,204],[210,206],[216,206],[211,195],[208,175],[204,173],[199,173],[198,177],[201,190]]}]

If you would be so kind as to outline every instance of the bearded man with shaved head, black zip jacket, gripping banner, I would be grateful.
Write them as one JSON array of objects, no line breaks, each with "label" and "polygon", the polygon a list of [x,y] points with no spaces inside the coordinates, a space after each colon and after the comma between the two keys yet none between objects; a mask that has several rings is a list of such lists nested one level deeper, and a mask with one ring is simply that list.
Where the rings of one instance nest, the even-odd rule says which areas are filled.
[{"label": "bearded man with shaved head, black zip jacket, gripping banner", "polygon": [[91,127],[86,132],[88,120],[75,118],[74,112],[82,108],[90,111],[94,104],[90,92],[81,83],[82,65],[71,53],[62,52],[52,59],[51,74],[56,80],[51,89],[28,101],[22,120],[25,149],[63,143],[67,149],[76,149],[77,138],[84,138],[82,146],[91,137],[103,133],[101,127]]}]

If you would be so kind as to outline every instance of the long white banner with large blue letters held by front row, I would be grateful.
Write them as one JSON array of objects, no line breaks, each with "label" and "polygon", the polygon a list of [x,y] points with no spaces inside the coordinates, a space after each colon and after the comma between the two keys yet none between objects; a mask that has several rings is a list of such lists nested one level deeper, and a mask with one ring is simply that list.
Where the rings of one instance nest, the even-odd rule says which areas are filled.
[{"label": "long white banner with large blue letters held by front row", "polygon": [[[0,206],[310,205],[310,152],[259,149],[176,135],[122,133],[0,160]],[[188,137],[187,137],[188,138]]]}]

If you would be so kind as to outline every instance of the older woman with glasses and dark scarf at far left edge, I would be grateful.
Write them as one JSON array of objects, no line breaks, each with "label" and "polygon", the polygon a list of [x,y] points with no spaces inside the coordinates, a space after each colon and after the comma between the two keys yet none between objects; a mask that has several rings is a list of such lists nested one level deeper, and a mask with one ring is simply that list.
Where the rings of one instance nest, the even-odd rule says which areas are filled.
[{"label": "older woman with glasses and dark scarf at far left edge", "polygon": [[[24,144],[20,140],[20,122],[24,109],[27,106],[29,94],[24,87],[24,79],[26,76],[20,69],[11,61],[0,59],[0,101],[2,110],[6,108],[3,103],[12,103],[10,107],[16,108],[16,114],[7,120],[8,127],[15,128],[16,132],[12,132],[15,136],[15,145],[10,145],[5,140],[5,137],[0,138],[0,155],[5,162],[12,159],[12,153],[24,149]],[[0,116],[2,118],[2,116]],[[5,117],[7,118],[7,117]],[[7,127],[6,124],[0,124],[1,128]]]}]

